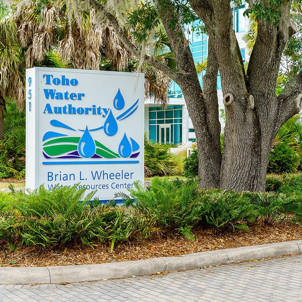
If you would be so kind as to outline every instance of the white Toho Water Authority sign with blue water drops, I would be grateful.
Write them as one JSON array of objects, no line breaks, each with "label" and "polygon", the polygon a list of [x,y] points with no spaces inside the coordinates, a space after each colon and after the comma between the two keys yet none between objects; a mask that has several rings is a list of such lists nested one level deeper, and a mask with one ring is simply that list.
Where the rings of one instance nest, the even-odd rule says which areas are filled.
[{"label": "white Toho Water Authority sign with blue water drops", "polygon": [[143,74],[34,67],[26,89],[26,188],[106,201],[144,180]]}]

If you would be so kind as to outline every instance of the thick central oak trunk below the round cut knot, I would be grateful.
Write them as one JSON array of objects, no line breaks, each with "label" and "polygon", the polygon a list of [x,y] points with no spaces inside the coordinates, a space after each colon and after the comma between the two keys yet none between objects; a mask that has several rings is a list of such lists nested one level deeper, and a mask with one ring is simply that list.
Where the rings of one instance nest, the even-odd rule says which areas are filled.
[{"label": "thick central oak trunk below the round cut knot", "polygon": [[[226,126],[223,138],[223,156],[220,188],[236,191],[263,191],[260,181],[261,130],[251,95],[223,99],[226,108]],[[247,104],[247,106],[244,106]]]}]

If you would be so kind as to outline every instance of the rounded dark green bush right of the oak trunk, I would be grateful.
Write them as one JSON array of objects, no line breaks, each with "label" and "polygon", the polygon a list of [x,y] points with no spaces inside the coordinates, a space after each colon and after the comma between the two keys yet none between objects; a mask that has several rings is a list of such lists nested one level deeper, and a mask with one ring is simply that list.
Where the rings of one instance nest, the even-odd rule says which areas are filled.
[{"label": "rounded dark green bush right of the oak trunk", "polygon": [[295,172],[300,158],[288,143],[281,142],[273,146],[268,160],[268,173]]}]

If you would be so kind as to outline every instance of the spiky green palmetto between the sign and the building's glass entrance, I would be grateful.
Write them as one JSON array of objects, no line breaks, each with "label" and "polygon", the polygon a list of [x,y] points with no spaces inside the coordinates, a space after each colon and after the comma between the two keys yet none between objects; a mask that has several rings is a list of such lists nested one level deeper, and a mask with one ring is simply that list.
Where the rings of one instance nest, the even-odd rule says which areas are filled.
[{"label": "spiky green palmetto between the sign and the building's glass entrance", "polygon": [[145,133],[145,176],[175,175],[176,162],[170,145],[161,145],[149,140]]}]

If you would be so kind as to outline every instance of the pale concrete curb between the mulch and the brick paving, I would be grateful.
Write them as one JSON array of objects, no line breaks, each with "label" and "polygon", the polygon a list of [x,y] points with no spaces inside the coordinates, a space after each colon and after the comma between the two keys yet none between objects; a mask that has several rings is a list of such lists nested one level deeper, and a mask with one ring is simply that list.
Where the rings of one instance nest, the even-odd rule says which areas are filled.
[{"label": "pale concrete curb between the mulch and the brick paving", "polygon": [[125,278],[301,252],[302,240],[298,240],[137,261],[48,267],[0,267],[0,284],[51,284]]}]

